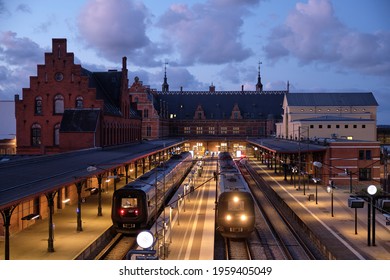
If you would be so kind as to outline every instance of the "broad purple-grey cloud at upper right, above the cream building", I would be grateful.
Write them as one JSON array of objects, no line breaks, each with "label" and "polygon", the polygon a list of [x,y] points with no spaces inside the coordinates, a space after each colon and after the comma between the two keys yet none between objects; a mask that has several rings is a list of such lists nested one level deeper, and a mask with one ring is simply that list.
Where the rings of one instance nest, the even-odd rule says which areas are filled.
[{"label": "broad purple-grey cloud at upper right, above the cream building", "polygon": [[329,63],[361,73],[390,73],[390,33],[356,32],[335,16],[329,0],[297,3],[283,25],[274,28],[264,47],[272,61],[295,57],[301,64]]}]

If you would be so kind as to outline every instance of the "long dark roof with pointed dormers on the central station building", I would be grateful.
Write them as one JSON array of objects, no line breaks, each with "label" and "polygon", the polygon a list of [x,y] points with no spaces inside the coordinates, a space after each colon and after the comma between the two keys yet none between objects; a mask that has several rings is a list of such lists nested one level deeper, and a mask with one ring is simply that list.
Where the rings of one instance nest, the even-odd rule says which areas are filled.
[{"label": "long dark roof with pointed dormers on the central station building", "polygon": [[244,119],[281,118],[284,91],[278,92],[169,92],[159,93],[176,119],[193,119],[198,105],[206,119],[229,119],[235,104]]}]

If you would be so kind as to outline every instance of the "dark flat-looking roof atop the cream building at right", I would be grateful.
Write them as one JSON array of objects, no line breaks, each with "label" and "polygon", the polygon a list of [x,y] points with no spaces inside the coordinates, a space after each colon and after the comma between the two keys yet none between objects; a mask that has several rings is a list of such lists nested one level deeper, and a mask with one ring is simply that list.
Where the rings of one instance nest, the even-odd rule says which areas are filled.
[{"label": "dark flat-looking roof atop the cream building at right", "polygon": [[290,92],[289,106],[378,106],[372,92]]}]

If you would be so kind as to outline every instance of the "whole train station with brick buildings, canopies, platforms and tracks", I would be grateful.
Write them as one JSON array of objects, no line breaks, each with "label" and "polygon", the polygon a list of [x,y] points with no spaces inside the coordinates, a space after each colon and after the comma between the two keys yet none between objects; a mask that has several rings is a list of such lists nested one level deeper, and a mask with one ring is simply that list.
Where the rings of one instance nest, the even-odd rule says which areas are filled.
[{"label": "whole train station with brick buildings, canopies, platforms and tracks", "polygon": [[[171,90],[166,64],[161,90],[128,76],[126,57],[90,71],[52,39],[15,95],[16,154],[0,158],[0,258],[389,259],[372,92],[267,91],[260,64],[255,90]],[[240,195],[220,203],[222,182],[242,187],[220,171],[223,153],[254,214]],[[250,234],[227,237],[253,216]],[[144,231],[152,243],[136,247]]]}]

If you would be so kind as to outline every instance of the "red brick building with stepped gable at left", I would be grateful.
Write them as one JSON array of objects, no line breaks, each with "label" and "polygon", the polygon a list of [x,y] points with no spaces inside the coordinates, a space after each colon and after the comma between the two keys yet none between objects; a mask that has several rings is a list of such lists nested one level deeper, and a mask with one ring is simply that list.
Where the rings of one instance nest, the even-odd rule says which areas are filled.
[{"label": "red brick building with stepped gable at left", "polygon": [[121,71],[90,72],[74,63],[66,39],[53,39],[23,98],[15,95],[18,154],[46,154],[141,140],[141,117]]}]

